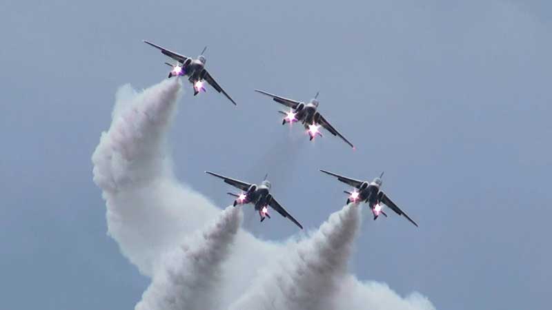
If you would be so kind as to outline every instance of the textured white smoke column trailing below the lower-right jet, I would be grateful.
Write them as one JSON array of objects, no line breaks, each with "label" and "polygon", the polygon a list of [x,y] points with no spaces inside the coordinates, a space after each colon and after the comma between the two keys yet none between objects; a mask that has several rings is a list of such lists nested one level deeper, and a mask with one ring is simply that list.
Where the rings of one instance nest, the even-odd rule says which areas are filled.
[{"label": "textured white smoke column trailing below the lower-right jet", "polygon": [[353,203],[332,214],[230,309],[341,309],[333,302],[346,276],[359,218],[358,205]]}]

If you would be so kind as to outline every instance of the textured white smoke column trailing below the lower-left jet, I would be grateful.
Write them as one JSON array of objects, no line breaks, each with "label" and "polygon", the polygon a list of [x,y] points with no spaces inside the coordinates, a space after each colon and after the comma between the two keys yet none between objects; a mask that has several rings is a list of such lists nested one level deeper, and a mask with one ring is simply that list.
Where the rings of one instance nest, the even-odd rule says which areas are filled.
[{"label": "textured white smoke column trailing below the lower-left jet", "polygon": [[221,262],[226,260],[242,212],[227,207],[215,223],[168,252],[155,268],[152,284],[136,310],[204,310],[220,306]]}]

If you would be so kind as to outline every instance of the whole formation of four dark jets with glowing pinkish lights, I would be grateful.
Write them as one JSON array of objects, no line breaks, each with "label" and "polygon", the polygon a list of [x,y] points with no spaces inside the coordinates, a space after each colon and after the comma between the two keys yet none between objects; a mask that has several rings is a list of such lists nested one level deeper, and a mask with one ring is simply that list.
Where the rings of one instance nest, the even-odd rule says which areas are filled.
[{"label": "whole formation of four dark jets with glowing pinkish lights", "polygon": [[[186,76],[188,78],[188,81],[193,85],[194,96],[199,94],[199,92],[201,91],[206,92],[205,82],[207,82],[209,85],[211,85],[211,87],[217,90],[217,92],[224,94],[224,96],[226,96],[228,100],[230,100],[234,105],[237,105],[236,102],[222,89],[219,83],[217,83],[217,81],[213,79],[213,76],[211,76],[206,70],[206,58],[204,56],[204,53],[207,47],[205,47],[203,51],[201,51],[201,54],[197,56],[197,59],[193,59],[189,56],[184,56],[183,54],[172,52],[171,50],[168,50],[160,45],[149,41],[144,41],[144,43],[157,48],[161,51],[162,54],[170,57],[173,61],[175,61],[174,64],[166,63],[166,65],[169,65],[171,67],[168,78],[170,79],[172,77],[179,78],[179,76]],[[255,90],[255,92],[259,92],[260,94],[269,96],[273,99],[273,101],[276,101],[277,103],[285,105],[289,108],[288,111],[279,111],[279,113],[284,115],[284,118],[282,119],[282,125],[285,125],[286,123],[301,123],[308,133],[311,141],[313,140],[313,138],[315,138],[315,136],[322,136],[322,133],[320,132],[320,127],[322,127],[334,136],[339,136],[339,138],[341,138],[349,146],[353,147],[353,149],[355,148],[353,144],[347,140],[347,138],[340,134],[335,129],[335,127],[333,127],[333,125],[331,125],[326,120],[326,118],[324,118],[324,116],[322,116],[322,114],[318,112],[318,92],[313,99],[308,101],[308,103],[288,99],[275,94],[270,94],[269,92],[265,92],[264,90]],[[368,182],[364,180],[348,178],[346,176],[335,174],[333,172],[328,172],[326,170],[320,171],[324,172],[324,174],[335,176],[337,180],[353,187],[353,190],[351,192],[344,191],[344,193],[349,195],[346,203],[368,204],[368,207],[373,213],[374,220],[376,220],[380,216],[380,214],[387,217],[387,214],[382,209],[383,205],[385,205],[389,209],[395,211],[395,213],[399,216],[404,216],[416,227],[418,226],[417,223],[415,223],[415,221],[410,218],[410,216],[408,216],[406,213],[404,213],[404,211],[402,211],[402,209],[395,205],[395,203],[393,203],[393,201],[382,191],[383,172],[379,177],[374,178],[372,182]],[[303,226],[299,223],[299,221],[291,216],[291,214],[289,214],[289,212],[277,202],[277,200],[273,197],[273,194],[270,193],[270,182],[266,179],[268,177],[268,174],[265,176],[264,180],[262,180],[262,182],[257,185],[254,183],[247,183],[242,180],[237,180],[235,178],[229,178],[228,176],[223,176],[221,174],[216,174],[215,172],[206,171],[206,173],[217,178],[221,178],[222,180],[224,180],[224,183],[227,183],[239,189],[239,193],[227,193],[228,195],[235,197],[233,203],[234,207],[236,207],[237,205],[246,204],[253,205],[255,211],[259,213],[261,222],[264,221],[265,218],[270,218],[270,214],[268,213],[268,207],[270,207],[277,211],[277,213],[282,215],[284,218],[288,218],[299,228],[303,229]]]}]

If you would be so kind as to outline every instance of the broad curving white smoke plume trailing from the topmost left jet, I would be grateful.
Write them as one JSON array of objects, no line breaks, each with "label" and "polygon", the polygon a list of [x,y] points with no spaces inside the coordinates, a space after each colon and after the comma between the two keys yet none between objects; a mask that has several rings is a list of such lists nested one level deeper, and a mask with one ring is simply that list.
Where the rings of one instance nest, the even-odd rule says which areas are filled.
[{"label": "broad curving white smoke plume trailing from the topmost left jet", "polygon": [[172,173],[166,137],[181,85],[170,79],[141,93],[119,89],[112,124],[92,155],[94,182],[106,200],[108,234],[141,271],[217,214]]}]

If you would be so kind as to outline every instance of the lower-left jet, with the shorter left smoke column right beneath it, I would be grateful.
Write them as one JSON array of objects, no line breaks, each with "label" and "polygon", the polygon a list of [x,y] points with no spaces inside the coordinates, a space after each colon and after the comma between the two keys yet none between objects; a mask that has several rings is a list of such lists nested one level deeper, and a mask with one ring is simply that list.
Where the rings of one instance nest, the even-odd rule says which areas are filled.
[{"label": "lower-left jet, with the shorter left smoke column right beneath it", "polygon": [[260,185],[256,184],[250,184],[243,182],[241,180],[236,180],[235,178],[228,178],[226,176],[221,176],[220,174],[215,174],[214,172],[208,172],[207,174],[210,174],[212,176],[216,176],[217,178],[221,178],[224,180],[225,183],[228,183],[232,185],[233,187],[236,187],[237,189],[241,190],[242,192],[239,194],[234,193],[226,193],[230,196],[236,197],[236,200],[234,200],[234,207],[236,205],[245,205],[247,203],[252,203],[255,206],[255,211],[259,212],[259,216],[261,217],[261,222],[265,218],[270,218],[270,214],[268,214],[268,207],[270,206],[273,209],[275,209],[279,214],[282,214],[284,218],[289,218],[295,225],[299,226],[299,228],[303,229],[303,226],[291,216],[291,214],[280,205],[276,199],[270,194],[270,182],[266,180],[266,177],[264,177],[264,180]]}]

